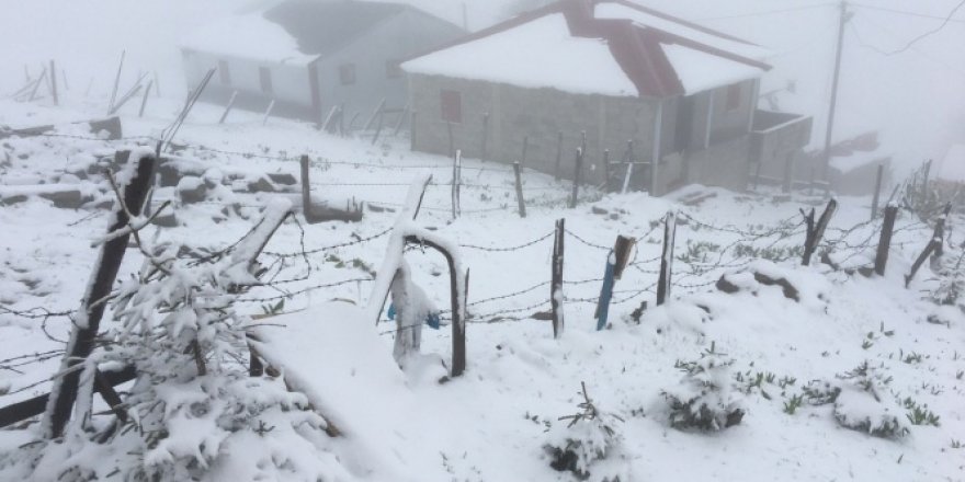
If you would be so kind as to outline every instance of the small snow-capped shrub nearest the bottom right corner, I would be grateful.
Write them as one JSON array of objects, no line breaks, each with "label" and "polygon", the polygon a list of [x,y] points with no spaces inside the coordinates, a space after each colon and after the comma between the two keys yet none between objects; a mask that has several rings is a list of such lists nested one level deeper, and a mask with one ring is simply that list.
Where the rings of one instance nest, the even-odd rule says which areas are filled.
[{"label": "small snow-capped shrub nearest the bottom right corner", "polygon": [[838,378],[849,381],[835,400],[838,424],[884,438],[898,438],[908,433],[900,416],[901,408],[887,388],[892,377],[865,360]]}]

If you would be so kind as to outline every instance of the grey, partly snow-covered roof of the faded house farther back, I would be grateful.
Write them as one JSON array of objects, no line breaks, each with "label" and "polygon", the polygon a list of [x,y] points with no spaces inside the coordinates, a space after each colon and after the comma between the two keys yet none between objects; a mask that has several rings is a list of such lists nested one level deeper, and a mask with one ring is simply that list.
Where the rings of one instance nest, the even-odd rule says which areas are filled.
[{"label": "grey, partly snow-covered roof of the faded house farther back", "polygon": [[182,48],[284,64],[307,64],[339,50],[411,7],[370,1],[285,0],[192,32]]}]

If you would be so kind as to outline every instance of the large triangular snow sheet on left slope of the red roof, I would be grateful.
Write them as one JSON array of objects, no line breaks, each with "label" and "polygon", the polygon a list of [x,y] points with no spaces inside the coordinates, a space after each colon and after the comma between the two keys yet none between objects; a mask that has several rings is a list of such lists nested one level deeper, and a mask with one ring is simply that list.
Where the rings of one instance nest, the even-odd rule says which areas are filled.
[{"label": "large triangular snow sheet on left slope of the red roof", "polygon": [[402,64],[409,72],[565,92],[636,96],[637,89],[600,38],[570,35],[555,13]]}]

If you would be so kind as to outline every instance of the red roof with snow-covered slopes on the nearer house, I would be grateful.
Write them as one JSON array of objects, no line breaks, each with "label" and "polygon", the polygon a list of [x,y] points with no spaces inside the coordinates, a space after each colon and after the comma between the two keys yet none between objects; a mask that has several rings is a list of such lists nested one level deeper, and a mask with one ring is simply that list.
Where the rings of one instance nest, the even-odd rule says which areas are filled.
[{"label": "red roof with snow-covered slopes on the nearer house", "polygon": [[409,72],[671,97],[760,77],[757,45],[627,0],[563,0],[402,65]]}]

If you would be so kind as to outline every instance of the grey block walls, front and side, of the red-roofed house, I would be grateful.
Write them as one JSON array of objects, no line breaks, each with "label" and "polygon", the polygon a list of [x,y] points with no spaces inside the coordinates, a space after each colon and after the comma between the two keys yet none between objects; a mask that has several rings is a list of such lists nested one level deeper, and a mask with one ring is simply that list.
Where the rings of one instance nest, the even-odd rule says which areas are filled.
[{"label": "grey block walls, front and side, of the red-roofed house", "polygon": [[[661,161],[657,169],[656,194],[666,194],[688,182],[746,188],[747,129],[753,81],[741,84],[746,95],[738,108],[727,111],[722,104],[724,112],[714,114],[712,138],[716,139],[708,149],[691,147],[680,152],[673,151],[678,99],[665,100],[663,106],[658,107],[659,101],[652,99],[572,94],[554,89],[524,89],[440,76],[410,74],[409,82],[410,104],[417,110],[413,148],[419,151],[452,156],[458,149],[467,158],[511,163],[522,161],[525,145],[523,163],[526,168],[572,179],[576,149],[586,133],[587,152],[581,179],[602,185],[605,179],[604,151],[610,151],[611,161],[620,162],[627,156],[627,141],[632,140],[632,160],[648,162],[652,159],[655,118],[659,110],[662,118]],[[440,94],[443,90],[459,93],[461,122],[443,120]],[[697,101],[702,104],[696,113],[703,117],[697,116],[694,125],[702,127],[694,129],[704,133],[703,136],[706,135],[705,113],[709,99],[705,95]],[[726,96],[715,95],[716,102],[726,102]],[[618,181],[626,167],[616,164],[613,169],[616,171],[613,176]],[[647,167],[635,169],[631,186],[649,191]]]}]

